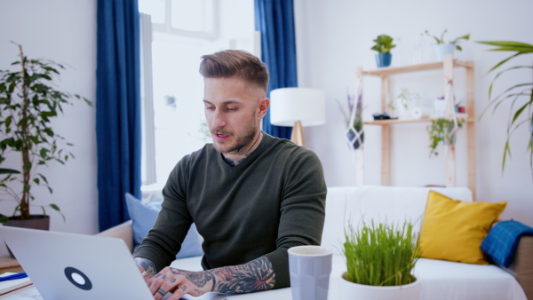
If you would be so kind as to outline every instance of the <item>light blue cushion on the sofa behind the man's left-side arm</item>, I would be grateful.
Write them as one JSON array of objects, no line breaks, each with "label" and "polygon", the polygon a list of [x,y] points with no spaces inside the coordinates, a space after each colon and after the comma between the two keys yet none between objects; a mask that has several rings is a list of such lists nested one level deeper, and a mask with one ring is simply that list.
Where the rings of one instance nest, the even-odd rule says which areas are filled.
[{"label": "light blue cushion on the sofa behind the man's left-side arm", "polygon": [[[149,201],[147,204],[142,204],[139,199],[131,195],[131,193],[126,193],[126,205],[128,206],[128,211],[130,212],[131,220],[133,224],[131,225],[131,230],[133,231],[133,242],[135,248],[139,247],[140,242],[144,239],[152,226],[155,224],[155,219],[161,210],[161,203],[163,199],[156,201]],[[202,246],[201,246],[200,234],[196,230],[195,224],[191,225],[185,241],[181,244],[181,250],[179,250],[176,258],[184,257],[199,257],[203,255]]]}]

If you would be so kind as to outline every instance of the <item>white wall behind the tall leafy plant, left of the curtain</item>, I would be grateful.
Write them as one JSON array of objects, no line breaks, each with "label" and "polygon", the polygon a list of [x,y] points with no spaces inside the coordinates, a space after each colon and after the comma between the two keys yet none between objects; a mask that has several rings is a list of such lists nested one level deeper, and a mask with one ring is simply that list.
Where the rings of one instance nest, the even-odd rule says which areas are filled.
[{"label": "white wall behind the tall leafy plant, left of the curtain", "polygon": [[[77,93],[95,101],[96,89],[96,1],[48,0],[1,1],[0,69],[12,69],[20,43],[29,59],[46,58],[70,66],[57,82],[60,91]],[[54,122],[56,133],[75,146],[69,150],[76,156],[66,165],[50,163],[44,173],[53,193],[44,189],[34,192],[34,204],[56,203],[67,218],[48,209],[51,229],[61,232],[96,233],[98,231],[98,190],[96,187],[95,108],[84,103],[67,107]],[[18,157],[16,158],[18,159]],[[19,162],[9,161],[3,167],[20,169]],[[0,198],[0,211],[12,213],[12,201]],[[39,207],[30,210],[41,213]],[[4,243],[2,246],[4,248]],[[3,252],[4,249],[0,249]]]}]

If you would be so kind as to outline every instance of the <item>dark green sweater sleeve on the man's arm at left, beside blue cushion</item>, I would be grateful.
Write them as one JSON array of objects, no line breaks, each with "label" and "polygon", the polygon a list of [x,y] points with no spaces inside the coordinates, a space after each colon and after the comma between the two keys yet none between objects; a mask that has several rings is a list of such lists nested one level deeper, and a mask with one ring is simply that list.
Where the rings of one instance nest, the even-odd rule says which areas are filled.
[{"label": "dark green sweater sleeve on the man's arm at left, beside blue cushion", "polygon": [[133,252],[155,264],[157,272],[170,265],[181,249],[193,219],[187,209],[187,157],[171,171],[163,188],[162,209],[148,235]]}]

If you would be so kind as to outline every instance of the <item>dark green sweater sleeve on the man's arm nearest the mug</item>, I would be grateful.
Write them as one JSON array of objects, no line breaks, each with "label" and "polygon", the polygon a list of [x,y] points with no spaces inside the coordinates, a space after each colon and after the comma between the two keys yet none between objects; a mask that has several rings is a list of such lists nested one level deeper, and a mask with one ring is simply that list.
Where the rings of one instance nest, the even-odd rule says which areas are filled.
[{"label": "dark green sweater sleeve on the man's arm nearest the mug", "polygon": [[300,245],[320,245],[325,218],[327,187],[322,163],[309,149],[298,147],[286,166],[276,250],[268,253],[275,272],[274,288],[290,286],[287,250]]}]

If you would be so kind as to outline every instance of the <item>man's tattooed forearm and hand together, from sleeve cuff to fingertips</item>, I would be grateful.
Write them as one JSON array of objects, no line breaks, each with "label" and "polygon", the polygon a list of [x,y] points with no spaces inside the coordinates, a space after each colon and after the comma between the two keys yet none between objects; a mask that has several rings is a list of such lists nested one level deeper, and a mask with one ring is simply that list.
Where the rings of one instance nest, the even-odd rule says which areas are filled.
[{"label": "man's tattooed forearm and hand together, from sleeve cuff to fingertips", "polygon": [[169,300],[179,300],[185,294],[202,296],[211,291],[241,294],[274,288],[275,274],[267,257],[247,264],[226,266],[202,272],[190,272],[166,267],[147,280],[155,299],[173,293]]}]

